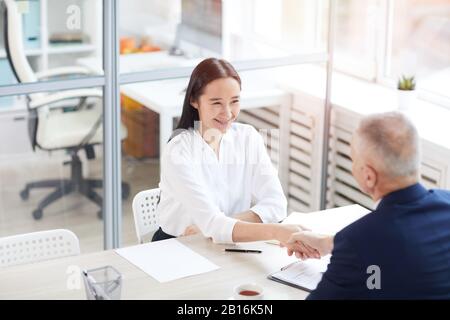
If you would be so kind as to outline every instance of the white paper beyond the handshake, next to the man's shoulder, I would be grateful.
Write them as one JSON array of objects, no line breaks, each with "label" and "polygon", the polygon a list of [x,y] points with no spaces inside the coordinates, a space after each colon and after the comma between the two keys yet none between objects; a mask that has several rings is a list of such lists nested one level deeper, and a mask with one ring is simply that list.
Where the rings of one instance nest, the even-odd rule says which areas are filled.
[{"label": "white paper beyond the handshake, next to the man's shoulder", "polygon": [[300,224],[313,232],[334,235],[369,212],[370,210],[353,204],[317,212],[293,212],[283,223]]}]

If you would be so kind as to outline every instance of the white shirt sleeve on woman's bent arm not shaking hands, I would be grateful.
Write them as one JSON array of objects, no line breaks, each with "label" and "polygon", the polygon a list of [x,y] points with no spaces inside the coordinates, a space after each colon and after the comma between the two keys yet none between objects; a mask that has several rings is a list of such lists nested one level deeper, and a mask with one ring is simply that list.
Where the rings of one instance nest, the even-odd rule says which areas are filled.
[{"label": "white shirt sleeve on woman's bent arm not shaking hands", "polygon": [[256,203],[250,210],[256,213],[264,223],[279,222],[286,218],[287,200],[278,172],[267,154],[263,138],[255,129],[252,130],[251,143],[255,153],[251,157],[253,161],[251,186]]}]

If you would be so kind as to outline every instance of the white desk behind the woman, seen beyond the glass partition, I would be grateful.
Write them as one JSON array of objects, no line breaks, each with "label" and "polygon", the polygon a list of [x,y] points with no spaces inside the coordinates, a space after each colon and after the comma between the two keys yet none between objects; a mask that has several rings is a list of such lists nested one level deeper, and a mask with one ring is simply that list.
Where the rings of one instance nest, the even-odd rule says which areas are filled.
[{"label": "white desk behind the woman, seen beyond the glass partition", "polygon": [[[136,72],[164,67],[195,66],[200,60],[168,55],[167,52],[123,55],[120,57],[121,72]],[[100,61],[95,58],[79,59],[78,63],[102,72]],[[242,80],[241,109],[280,106],[289,108],[290,95],[279,89],[265,70],[240,73]],[[126,84],[120,92],[159,114],[160,155],[173,131],[173,118],[181,116],[185,89],[189,79],[178,78],[152,82]]]}]

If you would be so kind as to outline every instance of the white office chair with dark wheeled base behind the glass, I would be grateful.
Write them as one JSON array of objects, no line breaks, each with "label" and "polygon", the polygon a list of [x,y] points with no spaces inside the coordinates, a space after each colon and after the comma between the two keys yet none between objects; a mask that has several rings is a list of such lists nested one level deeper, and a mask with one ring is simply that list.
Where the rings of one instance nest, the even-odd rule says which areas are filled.
[{"label": "white office chair with dark wheeled base behind the glass", "polygon": [[[22,17],[14,0],[4,0],[4,37],[5,49],[11,69],[20,83],[34,82],[57,76],[82,75],[92,73],[83,67],[63,67],[34,73],[25,56],[22,39]],[[98,89],[77,89],[55,93],[33,93],[27,96],[28,131],[33,150],[36,147],[46,150],[66,150],[71,157],[64,165],[71,166],[70,179],[52,179],[28,183],[20,192],[23,200],[28,199],[34,188],[55,188],[33,211],[34,219],[40,219],[43,209],[59,198],[72,192],[79,192],[102,207],[102,198],[95,188],[103,187],[103,181],[85,179],[82,175],[82,163],[78,156],[81,149],[86,151],[88,159],[95,157],[93,146],[102,142],[102,98]],[[121,126],[121,138],[127,135]],[[127,198],[129,185],[122,183],[122,197]],[[102,217],[102,210],[98,212]]]}]

